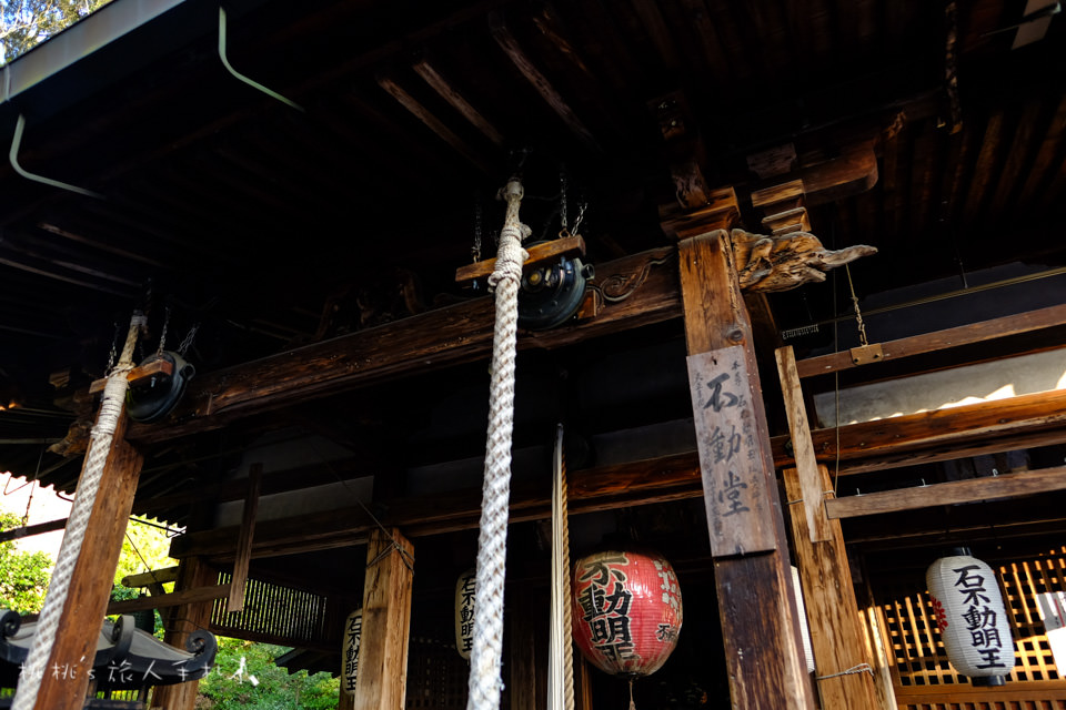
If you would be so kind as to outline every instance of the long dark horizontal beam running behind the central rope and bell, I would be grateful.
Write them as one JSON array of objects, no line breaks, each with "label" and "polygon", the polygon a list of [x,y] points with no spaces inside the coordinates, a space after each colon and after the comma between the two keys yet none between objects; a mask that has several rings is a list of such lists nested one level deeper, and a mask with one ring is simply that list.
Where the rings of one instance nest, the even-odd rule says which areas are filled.
[{"label": "long dark horizontal beam running behind the central rope and bell", "polygon": [[[594,284],[604,291],[632,286],[632,293],[605,303],[595,318],[551,331],[521,332],[519,348],[561,347],[680,317],[675,254],[673,247],[663,247],[597,265]],[[131,425],[128,439],[138,444],[172,440],[404,375],[487,358],[493,318],[492,298],[475,298],[200,374],[167,420]]]}]

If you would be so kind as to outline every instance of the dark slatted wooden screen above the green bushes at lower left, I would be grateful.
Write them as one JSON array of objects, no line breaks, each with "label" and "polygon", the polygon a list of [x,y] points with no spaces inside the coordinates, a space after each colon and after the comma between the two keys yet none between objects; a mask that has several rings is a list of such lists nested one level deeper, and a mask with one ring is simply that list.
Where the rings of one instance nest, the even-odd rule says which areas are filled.
[{"label": "dark slatted wooden screen above the green bushes at lower left", "polygon": [[[229,572],[219,574],[219,584],[230,579]],[[329,640],[322,595],[249,578],[244,609],[230,613],[227,606],[227,599],[217,599],[211,610],[211,631],[219,636],[296,647]]]}]

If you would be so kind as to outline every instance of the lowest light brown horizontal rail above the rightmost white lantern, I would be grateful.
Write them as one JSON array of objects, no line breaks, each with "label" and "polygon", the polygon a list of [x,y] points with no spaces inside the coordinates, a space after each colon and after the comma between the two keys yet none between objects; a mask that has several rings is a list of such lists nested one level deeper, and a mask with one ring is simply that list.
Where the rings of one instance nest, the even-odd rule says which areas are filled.
[{"label": "lowest light brown horizontal rail above the rightmost white lantern", "polygon": [[835,498],[825,501],[825,511],[831,518],[857,518],[878,513],[974,503],[989,498],[1030,496],[1063,489],[1066,489],[1066,467],[1059,466],[989,478],[967,478],[931,486]]}]

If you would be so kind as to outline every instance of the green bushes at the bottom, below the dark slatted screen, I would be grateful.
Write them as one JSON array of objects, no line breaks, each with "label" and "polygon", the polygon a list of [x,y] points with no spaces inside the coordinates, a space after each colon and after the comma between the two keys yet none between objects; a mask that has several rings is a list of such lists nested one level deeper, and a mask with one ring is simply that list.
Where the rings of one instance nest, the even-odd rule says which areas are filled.
[{"label": "green bushes at the bottom, below the dark slatted screen", "polygon": [[[274,665],[283,646],[220,638],[214,668],[200,681],[198,710],[324,710],[336,708],[340,681],[329,673],[292,673]],[[241,667],[241,659],[244,666]],[[258,684],[252,683],[254,677]]]}]

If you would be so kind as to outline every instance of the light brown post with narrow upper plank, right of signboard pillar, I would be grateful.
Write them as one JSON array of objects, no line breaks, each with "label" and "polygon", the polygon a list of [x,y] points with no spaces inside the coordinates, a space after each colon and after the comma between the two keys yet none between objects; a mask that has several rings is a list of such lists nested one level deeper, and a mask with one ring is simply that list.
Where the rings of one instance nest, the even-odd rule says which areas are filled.
[{"label": "light brown post with narrow upper plank, right of signboard pillar", "polygon": [[[792,347],[777,351],[777,368],[792,432],[796,467],[782,471],[796,567],[807,611],[811,647],[823,708],[879,707],[873,667],[858,617],[858,602],[839,520],[831,520],[823,500],[833,481],[814,457],[800,374]],[[858,669],[864,669],[856,672]],[[841,674],[843,673],[843,674]]]}]

